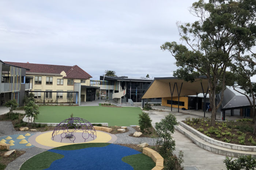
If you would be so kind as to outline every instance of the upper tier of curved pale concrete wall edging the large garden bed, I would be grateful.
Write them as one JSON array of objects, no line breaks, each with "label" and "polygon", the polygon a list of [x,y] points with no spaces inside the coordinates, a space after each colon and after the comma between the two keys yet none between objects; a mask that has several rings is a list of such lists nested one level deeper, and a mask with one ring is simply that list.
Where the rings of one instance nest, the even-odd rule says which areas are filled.
[{"label": "upper tier of curved pale concrete wall edging the large garden bed", "polygon": [[212,139],[212,138],[202,134],[201,132],[195,130],[194,128],[190,127],[189,125],[183,123],[182,121],[179,121],[178,123],[182,127],[184,127],[185,129],[187,129],[188,131],[190,131],[193,134],[195,134],[196,136],[198,136],[199,138],[205,140],[208,143],[214,144],[216,146],[221,146],[221,147],[224,147],[224,148],[240,150],[240,151],[250,151],[250,152],[255,152],[256,151],[256,146],[244,146],[244,145],[226,143],[226,142],[222,142],[222,141],[219,141],[219,140],[215,140],[215,139]]}]

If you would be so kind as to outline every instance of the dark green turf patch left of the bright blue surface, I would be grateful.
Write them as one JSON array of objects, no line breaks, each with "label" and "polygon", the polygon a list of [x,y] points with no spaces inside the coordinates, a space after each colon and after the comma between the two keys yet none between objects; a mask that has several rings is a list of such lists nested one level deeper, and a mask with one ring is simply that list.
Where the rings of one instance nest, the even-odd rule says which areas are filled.
[{"label": "dark green turf patch left of the bright blue surface", "polygon": [[[63,158],[64,155],[45,151],[27,160],[22,164],[20,170],[41,170],[49,168],[53,161]],[[40,161],[38,161],[40,160]]]}]

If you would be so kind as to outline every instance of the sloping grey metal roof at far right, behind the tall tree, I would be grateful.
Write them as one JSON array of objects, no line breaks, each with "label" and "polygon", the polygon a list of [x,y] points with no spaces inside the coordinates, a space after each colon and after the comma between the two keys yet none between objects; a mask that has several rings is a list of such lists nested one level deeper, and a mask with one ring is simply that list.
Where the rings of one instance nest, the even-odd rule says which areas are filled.
[{"label": "sloping grey metal roof at far right, behind the tall tree", "polygon": [[[249,97],[252,102],[252,97]],[[232,110],[240,108],[250,108],[251,105],[245,96],[234,96],[221,110]]]}]

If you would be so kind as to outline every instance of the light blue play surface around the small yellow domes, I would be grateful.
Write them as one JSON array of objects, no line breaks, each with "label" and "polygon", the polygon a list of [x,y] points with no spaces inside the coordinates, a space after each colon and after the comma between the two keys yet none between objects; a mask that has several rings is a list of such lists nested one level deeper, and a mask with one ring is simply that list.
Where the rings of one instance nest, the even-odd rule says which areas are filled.
[{"label": "light blue play surface around the small yellow domes", "polygon": [[29,147],[35,147],[34,145],[31,145],[31,146],[26,146],[27,143],[25,144],[19,144],[19,142],[22,140],[22,139],[16,139],[19,135],[23,135],[27,140],[27,142],[29,142],[29,138],[33,135],[33,134],[30,134],[30,136],[25,136],[26,134],[16,134],[16,135],[8,135],[10,136],[12,139],[5,139],[7,136],[1,136],[0,137],[0,141],[2,139],[6,140],[6,144],[9,144],[9,141],[10,140],[14,140],[14,146],[10,146],[10,149],[24,149],[24,148],[29,148]]}]

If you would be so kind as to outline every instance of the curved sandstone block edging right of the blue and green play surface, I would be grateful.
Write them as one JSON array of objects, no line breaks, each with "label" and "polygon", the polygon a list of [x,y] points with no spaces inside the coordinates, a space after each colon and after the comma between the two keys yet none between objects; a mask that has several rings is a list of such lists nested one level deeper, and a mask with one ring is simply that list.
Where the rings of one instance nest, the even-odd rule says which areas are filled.
[{"label": "curved sandstone block edging right of the blue and green play surface", "polygon": [[155,167],[152,170],[162,170],[164,168],[163,157],[157,151],[154,151],[153,149],[145,147],[143,148],[142,153],[152,158],[152,160],[155,162]]}]

